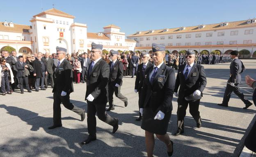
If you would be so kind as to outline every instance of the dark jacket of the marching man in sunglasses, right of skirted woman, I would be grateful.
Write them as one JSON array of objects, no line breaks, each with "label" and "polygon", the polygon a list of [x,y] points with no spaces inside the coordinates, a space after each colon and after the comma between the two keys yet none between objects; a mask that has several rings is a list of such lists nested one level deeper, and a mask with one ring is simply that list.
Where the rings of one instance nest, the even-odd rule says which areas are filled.
[{"label": "dark jacket of the marching man in sunglasses, right of skirted woman", "polygon": [[183,74],[184,68],[187,64],[183,64],[179,66],[174,92],[178,91],[180,86],[178,97],[184,98],[188,95],[194,93],[194,91],[199,90],[203,95],[203,90],[206,87],[206,73],[204,71],[203,66],[194,63],[190,73],[187,75],[187,80],[185,80],[185,76]]}]

